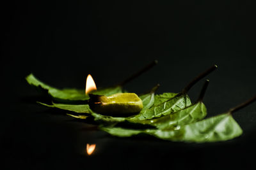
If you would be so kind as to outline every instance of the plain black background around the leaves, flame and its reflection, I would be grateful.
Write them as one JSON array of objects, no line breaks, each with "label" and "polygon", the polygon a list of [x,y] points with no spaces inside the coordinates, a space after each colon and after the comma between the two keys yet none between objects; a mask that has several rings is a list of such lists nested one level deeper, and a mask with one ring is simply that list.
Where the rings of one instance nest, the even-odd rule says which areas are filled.
[{"label": "plain black background around the leaves, flame and its reflection", "polygon": [[[234,114],[242,136],[220,143],[174,143],[115,138],[66,112],[36,104],[34,73],[55,87],[83,89],[87,74],[98,87],[124,80],[130,92],[179,92],[213,64],[207,78],[208,116],[227,111],[255,92],[250,1],[12,1],[1,5],[1,156],[4,169],[216,169],[255,164],[256,104]],[[195,101],[202,82],[189,92]],[[86,155],[86,143],[96,150]]]}]

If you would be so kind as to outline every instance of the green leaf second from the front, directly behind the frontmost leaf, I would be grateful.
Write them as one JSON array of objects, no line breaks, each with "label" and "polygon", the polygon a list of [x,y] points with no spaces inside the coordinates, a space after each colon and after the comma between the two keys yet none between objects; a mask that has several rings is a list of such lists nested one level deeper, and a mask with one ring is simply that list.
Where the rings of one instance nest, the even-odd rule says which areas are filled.
[{"label": "green leaf second from the front, directly behind the frontmost leaf", "polygon": [[152,120],[143,120],[140,123],[156,126],[157,129],[173,129],[177,126],[198,122],[198,120],[202,120],[206,115],[205,105],[199,101],[173,114]]}]

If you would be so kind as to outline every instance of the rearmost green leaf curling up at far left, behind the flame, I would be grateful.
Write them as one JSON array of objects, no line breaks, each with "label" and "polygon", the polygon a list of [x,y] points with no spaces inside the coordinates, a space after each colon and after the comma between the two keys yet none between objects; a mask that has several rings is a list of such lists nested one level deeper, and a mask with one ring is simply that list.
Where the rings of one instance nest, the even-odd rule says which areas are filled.
[{"label": "rearmost green leaf curling up at far left, behind the flame", "polygon": [[[33,87],[36,87],[37,89],[47,91],[48,94],[56,101],[59,101],[61,103],[70,103],[72,101],[86,101],[89,99],[88,95],[85,95],[84,90],[77,90],[77,89],[57,89],[54,87],[51,87],[42,81],[35,78],[33,74],[29,74],[26,77],[26,80],[30,85]],[[116,94],[122,92],[122,87],[109,87],[105,89],[99,89],[96,92],[93,92],[92,94],[99,94],[99,95],[105,95],[110,96],[111,94]]]}]

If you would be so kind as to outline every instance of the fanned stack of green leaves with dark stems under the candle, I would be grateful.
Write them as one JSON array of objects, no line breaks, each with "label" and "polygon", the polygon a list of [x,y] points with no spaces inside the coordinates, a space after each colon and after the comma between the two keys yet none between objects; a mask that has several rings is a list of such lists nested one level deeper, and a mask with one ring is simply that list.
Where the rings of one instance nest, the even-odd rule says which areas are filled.
[{"label": "fanned stack of green leaves with dark stems under the candle", "polygon": [[[38,103],[51,108],[67,110],[69,111],[67,115],[74,118],[88,120],[91,117],[94,122],[99,124],[99,129],[113,136],[130,137],[137,134],[146,134],[170,141],[204,143],[225,141],[240,136],[243,131],[232,117],[232,113],[256,99],[256,97],[253,97],[246,103],[227,111],[227,113],[205,118],[207,110],[202,101],[209,80],[205,81],[198,100],[193,104],[189,99],[188,91],[196,82],[215,69],[216,66],[210,67],[193,79],[179,93],[167,92],[156,95],[155,92],[159,87],[157,85],[150,92],[139,96],[143,102],[143,110],[129,117],[95,113],[87,103],[89,96],[85,95],[84,90],[56,89],[42,83],[33,74],[29,74],[26,80],[33,87],[46,92],[52,97],[52,104]],[[100,89],[92,92],[92,94],[110,96],[111,94],[122,93],[124,92],[122,85]]]}]

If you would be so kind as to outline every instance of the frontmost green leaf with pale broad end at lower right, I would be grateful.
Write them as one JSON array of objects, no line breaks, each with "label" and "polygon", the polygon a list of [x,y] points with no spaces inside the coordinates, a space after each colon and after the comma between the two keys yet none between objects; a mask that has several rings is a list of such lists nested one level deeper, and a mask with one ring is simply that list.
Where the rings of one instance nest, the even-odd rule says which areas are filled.
[{"label": "frontmost green leaf with pale broad end at lower right", "polygon": [[243,133],[230,113],[207,118],[193,124],[178,126],[172,130],[163,129],[124,129],[122,127],[101,127],[103,131],[113,136],[130,137],[145,133],[160,139],[184,142],[216,142],[236,138]]}]

